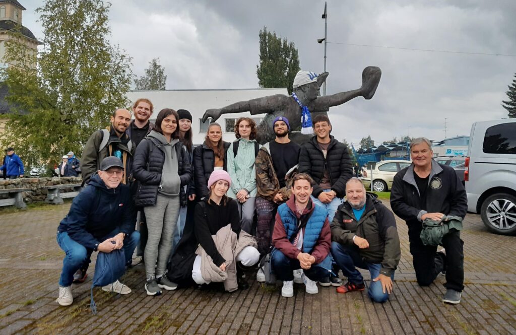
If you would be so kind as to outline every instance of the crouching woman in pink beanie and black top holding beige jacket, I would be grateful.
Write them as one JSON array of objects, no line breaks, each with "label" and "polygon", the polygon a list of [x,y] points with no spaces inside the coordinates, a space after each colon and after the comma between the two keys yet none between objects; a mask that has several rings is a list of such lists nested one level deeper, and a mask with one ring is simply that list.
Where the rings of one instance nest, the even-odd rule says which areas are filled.
[{"label": "crouching woman in pink beanie and black top holding beige jacket", "polygon": [[229,292],[247,289],[236,263],[252,266],[259,261],[256,238],[241,230],[236,200],[226,195],[231,185],[229,173],[215,170],[207,184],[208,196],[196,205],[193,229],[185,227],[167,276],[181,286],[224,282]]}]

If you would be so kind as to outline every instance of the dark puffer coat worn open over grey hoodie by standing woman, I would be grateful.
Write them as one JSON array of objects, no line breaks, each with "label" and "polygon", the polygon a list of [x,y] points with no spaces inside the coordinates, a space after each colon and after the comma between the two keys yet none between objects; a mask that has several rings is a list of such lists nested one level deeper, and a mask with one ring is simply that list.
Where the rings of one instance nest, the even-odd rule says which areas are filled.
[{"label": "dark puffer coat worn open over grey hoodie by standing woman", "polygon": [[[137,206],[153,206],[158,196],[158,186],[161,182],[165,152],[158,147],[159,142],[152,137],[141,140],[133,161],[133,176],[138,181],[135,203]],[[181,179],[181,206],[186,205],[186,195],[183,188],[190,182],[192,170],[190,158],[181,142],[174,145],[179,159],[179,177]]]}]

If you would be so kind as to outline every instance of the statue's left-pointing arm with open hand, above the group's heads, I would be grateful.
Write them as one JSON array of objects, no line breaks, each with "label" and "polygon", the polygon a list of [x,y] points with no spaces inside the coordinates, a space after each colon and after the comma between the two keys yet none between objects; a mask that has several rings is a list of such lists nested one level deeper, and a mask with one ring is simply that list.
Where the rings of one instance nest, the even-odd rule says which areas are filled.
[{"label": "statue's left-pointing arm with open hand, above the group's heads", "polygon": [[206,109],[202,122],[212,118],[216,121],[222,114],[242,113],[249,111],[251,115],[270,113],[275,110],[286,108],[288,97],[283,94],[269,95],[268,97],[239,101],[222,108]]}]

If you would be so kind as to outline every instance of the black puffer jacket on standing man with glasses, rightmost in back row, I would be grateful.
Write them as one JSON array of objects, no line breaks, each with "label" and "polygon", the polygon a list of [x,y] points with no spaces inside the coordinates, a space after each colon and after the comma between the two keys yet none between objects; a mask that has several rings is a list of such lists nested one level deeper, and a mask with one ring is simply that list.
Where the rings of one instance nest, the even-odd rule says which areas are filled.
[{"label": "black puffer jacket on standing man with glasses, rightmost in back row", "polygon": [[330,135],[330,145],[326,158],[319,148],[317,136],[304,143],[299,154],[299,172],[305,172],[315,181],[312,195],[318,197],[322,192],[319,183],[324,175],[325,166],[328,167],[331,189],[337,193],[338,198],[346,194],[346,182],[353,177],[353,168],[349,158],[348,147],[337,141]]}]

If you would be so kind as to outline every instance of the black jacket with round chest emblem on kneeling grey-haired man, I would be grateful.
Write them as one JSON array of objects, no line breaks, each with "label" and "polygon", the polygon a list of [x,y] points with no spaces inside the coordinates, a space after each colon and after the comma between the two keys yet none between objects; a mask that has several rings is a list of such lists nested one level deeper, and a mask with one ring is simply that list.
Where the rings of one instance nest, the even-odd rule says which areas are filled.
[{"label": "black jacket with round chest emblem on kneeling grey-haired man", "polygon": [[394,176],[391,187],[391,207],[407,225],[421,227],[425,213],[443,213],[464,218],[467,211],[466,190],[455,170],[432,159],[432,171],[426,191],[426,211],[420,207],[420,192],[414,180],[414,164]]}]

